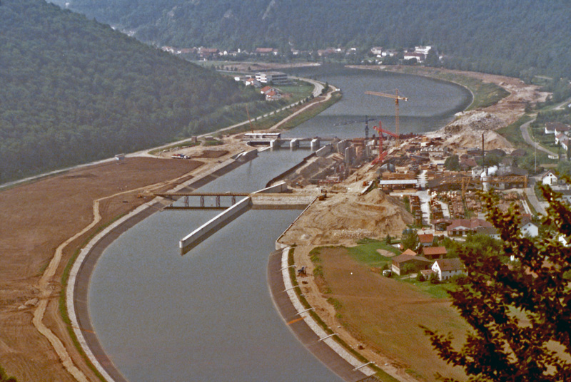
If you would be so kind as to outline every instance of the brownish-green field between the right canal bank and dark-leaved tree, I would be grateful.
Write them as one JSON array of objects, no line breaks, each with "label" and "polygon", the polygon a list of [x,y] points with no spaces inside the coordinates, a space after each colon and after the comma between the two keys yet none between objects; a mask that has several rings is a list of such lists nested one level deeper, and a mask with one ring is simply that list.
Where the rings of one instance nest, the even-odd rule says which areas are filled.
[{"label": "brownish-green field between the right canal bank and dark-leaved tree", "polygon": [[[443,286],[389,279],[373,272],[388,261],[376,251],[383,242],[368,240],[357,247],[322,247],[319,259],[325,291],[336,306],[338,317],[365,347],[374,349],[407,369],[408,373],[436,381],[436,373],[465,381],[462,370],[441,361],[420,324],[441,333],[452,333],[455,345],[463,341],[467,326],[450,301],[442,297]],[[317,253],[317,252],[315,252]],[[417,283],[418,284],[418,283]],[[434,296],[433,296],[434,295]]]}]

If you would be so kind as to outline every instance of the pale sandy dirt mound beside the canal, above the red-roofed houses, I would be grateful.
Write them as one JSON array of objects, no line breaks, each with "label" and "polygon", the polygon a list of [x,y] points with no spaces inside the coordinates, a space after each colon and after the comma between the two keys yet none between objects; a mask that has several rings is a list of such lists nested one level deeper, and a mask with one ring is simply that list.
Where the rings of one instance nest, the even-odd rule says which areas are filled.
[{"label": "pale sandy dirt mound beside the canal, above the red-roofed houses", "polygon": [[351,244],[355,239],[400,235],[413,222],[403,205],[379,190],[336,194],[315,202],[281,240],[293,244]]}]

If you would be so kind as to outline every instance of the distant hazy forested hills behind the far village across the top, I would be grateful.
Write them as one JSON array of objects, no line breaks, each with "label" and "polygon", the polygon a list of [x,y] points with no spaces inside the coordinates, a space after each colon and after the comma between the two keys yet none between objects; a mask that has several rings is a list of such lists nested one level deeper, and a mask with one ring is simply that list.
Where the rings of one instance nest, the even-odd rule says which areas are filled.
[{"label": "distant hazy forested hills behind the far village across the top", "polygon": [[571,77],[567,0],[51,0],[159,45],[406,48],[445,66]]}]

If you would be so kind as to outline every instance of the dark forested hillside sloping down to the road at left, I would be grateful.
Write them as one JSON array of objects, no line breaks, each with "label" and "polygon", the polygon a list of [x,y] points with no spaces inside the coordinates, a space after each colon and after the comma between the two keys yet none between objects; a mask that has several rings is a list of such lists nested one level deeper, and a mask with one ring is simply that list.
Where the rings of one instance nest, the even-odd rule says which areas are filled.
[{"label": "dark forested hillside sloping down to the road at left", "polygon": [[54,4],[0,1],[0,182],[166,143],[258,98]]}]

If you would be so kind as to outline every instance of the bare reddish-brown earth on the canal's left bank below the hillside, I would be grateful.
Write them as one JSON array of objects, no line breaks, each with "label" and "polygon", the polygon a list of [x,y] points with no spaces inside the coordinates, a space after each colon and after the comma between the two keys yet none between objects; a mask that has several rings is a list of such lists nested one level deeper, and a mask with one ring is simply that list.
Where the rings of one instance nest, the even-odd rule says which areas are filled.
[{"label": "bare reddish-brown earth on the canal's left bank below the hillside", "polygon": [[[39,279],[44,269],[56,247],[94,219],[94,200],[120,194],[101,202],[101,227],[146,202],[146,198],[138,197],[145,189],[168,190],[190,179],[196,169],[226,160],[230,156],[226,153],[208,154],[205,156],[215,159],[201,161],[126,158],[120,165],[111,162],[84,167],[0,192],[0,365],[8,375],[19,381],[74,381],[54,348],[32,324],[32,315],[39,305]],[[155,186],[148,187],[151,185]],[[58,304],[64,267],[95,231],[91,229],[64,249],[56,274],[48,283],[49,304],[43,319],[90,381],[96,376],[72,344]]]}]

